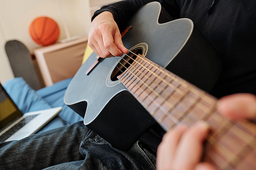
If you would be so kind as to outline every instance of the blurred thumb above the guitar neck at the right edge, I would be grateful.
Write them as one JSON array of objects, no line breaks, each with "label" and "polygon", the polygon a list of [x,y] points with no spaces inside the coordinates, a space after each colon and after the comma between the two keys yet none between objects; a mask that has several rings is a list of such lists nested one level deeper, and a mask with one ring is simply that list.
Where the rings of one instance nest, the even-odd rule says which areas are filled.
[{"label": "blurred thumb above the guitar neck at the right edge", "polygon": [[256,97],[249,93],[227,95],[218,101],[218,110],[231,119],[256,118]]}]

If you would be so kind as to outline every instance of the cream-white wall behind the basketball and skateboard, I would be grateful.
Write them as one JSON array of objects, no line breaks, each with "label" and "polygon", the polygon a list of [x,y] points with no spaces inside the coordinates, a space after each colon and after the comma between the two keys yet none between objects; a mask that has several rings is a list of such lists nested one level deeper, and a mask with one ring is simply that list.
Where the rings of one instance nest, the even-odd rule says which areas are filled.
[{"label": "cream-white wall behind the basketball and skateboard", "polygon": [[[90,7],[88,0],[60,0],[70,36],[87,36],[90,29]],[[29,34],[31,22],[39,16],[53,18],[59,25],[61,39],[66,39],[61,15],[56,0],[0,0],[0,82],[13,78],[5,43],[8,40],[23,42],[30,53],[38,45]]]}]

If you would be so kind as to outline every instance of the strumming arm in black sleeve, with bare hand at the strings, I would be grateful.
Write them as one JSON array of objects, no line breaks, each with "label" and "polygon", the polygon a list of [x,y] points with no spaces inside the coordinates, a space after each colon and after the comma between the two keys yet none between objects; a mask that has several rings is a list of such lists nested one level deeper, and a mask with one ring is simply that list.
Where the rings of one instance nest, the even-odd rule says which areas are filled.
[{"label": "strumming arm in black sleeve, with bare hand at the strings", "polygon": [[[127,0],[103,6],[96,11],[91,23],[88,44],[100,57],[121,56],[128,53],[123,46],[121,34],[127,21],[143,5],[152,0]],[[159,0],[164,6],[172,6],[170,11],[177,8],[175,0]],[[167,3],[168,2],[168,3]]]}]

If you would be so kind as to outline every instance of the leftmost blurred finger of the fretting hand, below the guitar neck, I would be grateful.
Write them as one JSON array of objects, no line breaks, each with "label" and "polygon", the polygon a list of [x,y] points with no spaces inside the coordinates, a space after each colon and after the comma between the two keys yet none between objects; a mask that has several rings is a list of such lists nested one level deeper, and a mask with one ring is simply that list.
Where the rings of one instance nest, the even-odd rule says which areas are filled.
[{"label": "leftmost blurred finger of the fretting hand, below the guitar neck", "polygon": [[168,169],[172,167],[176,147],[186,129],[187,127],[185,125],[180,125],[164,134],[162,142],[157,148],[157,169]]}]

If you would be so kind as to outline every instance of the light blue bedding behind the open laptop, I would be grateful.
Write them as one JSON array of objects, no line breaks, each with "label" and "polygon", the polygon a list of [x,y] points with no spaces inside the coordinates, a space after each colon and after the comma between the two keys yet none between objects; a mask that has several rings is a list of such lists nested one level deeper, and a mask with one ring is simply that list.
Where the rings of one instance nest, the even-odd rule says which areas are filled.
[{"label": "light blue bedding behind the open laptop", "polygon": [[71,79],[72,78],[62,80],[52,86],[44,87],[36,91],[33,90],[22,77],[9,80],[3,86],[14,103],[18,106],[19,110],[23,113],[52,107],[62,107],[62,111],[39,131],[44,132],[83,120],[80,115],[63,102],[66,88]]}]

